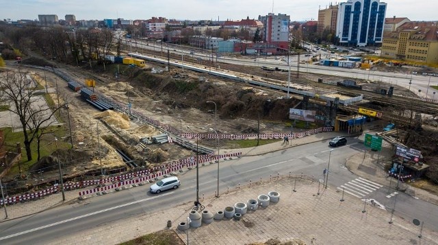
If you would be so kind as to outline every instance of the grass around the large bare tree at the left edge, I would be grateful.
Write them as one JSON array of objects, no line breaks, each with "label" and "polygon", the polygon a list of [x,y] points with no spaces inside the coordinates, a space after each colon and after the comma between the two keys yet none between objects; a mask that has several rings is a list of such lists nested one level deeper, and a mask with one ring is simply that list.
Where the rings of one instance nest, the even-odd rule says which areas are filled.
[{"label": "grass around the large bare tree at the left edge", "polygon": [[[32,160],[27,161],[23,132],[12,132],[12,128],[2,128],[2,130],[5,135],[5,145],[15,151],[14,145],[16,145],[16,143],[21,143],[21,153],[23,156],[20,162],[20,167],[18,167],[18,164],[14,165],[8,175],[16,175],[20,173],[19,169],[26,173],[30,169],[30,167],[37,162],[38,152],[36,150],[36,139],[34,139],[34,141],[32,141],[31,143]],[[52,126],[49,127],[49,131],[50,130],[53,130],[53,135],[46,134],[42,137],[40,148],[41,156],[49,156],[52,152],[56,150],[53,136],[61,139],[61,137],[66,135],[66,130],[64,128]],[[63,142],[62,140],[59,140],[57,145],[59,149],[70,147],[70,144],[68,142]]]}]

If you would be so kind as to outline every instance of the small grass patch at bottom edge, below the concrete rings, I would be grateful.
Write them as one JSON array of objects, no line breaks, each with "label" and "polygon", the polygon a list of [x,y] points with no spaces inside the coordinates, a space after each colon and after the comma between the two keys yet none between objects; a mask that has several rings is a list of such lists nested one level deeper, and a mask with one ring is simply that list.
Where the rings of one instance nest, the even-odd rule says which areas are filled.
[{"label": "small grass patch at bottom edge, below the concrete rings", "polygon": [[134,240],[123,242],[120,245],[182,245],[183,241],[172,230],[157,231],[138,237]]}]

